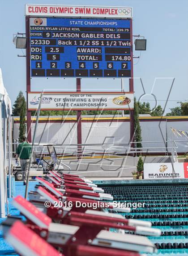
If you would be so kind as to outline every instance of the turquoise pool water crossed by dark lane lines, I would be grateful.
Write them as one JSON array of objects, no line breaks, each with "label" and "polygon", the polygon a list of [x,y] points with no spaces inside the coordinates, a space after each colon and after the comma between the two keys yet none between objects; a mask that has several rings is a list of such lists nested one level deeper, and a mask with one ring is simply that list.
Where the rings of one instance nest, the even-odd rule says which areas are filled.
[{"label": "turquoise pool water crossed by dark lane lines", "polygon": [[148,237],[158,248],[157,256],[188,256],[188,186],[183,183],[100,185],[114,201],[145,202],[145,207],[122,213],[128,219],[148,220],[162,230]]}]

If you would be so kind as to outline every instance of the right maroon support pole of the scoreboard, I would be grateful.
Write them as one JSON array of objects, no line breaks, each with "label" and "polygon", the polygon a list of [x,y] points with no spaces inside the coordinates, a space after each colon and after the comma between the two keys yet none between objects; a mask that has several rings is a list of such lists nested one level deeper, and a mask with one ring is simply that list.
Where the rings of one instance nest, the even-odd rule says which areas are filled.
[{"label": "right maroon support pole of the scoreboard", "polygon": [[[130,41],[131,41],[131,78],[129,78],[129,91],[134,92],[133,82],[133,40],[132,40],[132,19],[130,19]],[[134,110],[129,110],[130,118],[130,145],[134,148]]]}]

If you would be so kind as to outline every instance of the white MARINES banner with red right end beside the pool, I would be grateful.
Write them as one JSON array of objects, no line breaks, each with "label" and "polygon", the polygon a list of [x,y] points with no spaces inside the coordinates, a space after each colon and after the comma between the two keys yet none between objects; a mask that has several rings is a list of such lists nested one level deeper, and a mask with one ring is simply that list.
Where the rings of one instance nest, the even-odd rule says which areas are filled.
[{"label": "white MARINES banner with red right end beside the pool", "polygon": [[[173,178],[171,163],[145,163],[144,179]],[[188,178],[188,163],[174,163],[174,178]]]}]

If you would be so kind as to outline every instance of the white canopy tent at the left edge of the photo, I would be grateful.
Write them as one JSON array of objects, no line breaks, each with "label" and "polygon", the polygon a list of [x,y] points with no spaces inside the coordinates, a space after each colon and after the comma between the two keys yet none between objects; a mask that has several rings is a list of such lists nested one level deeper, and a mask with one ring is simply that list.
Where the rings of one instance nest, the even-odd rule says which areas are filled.
[{"label": "white canopy tent at the left edge of the photo", "polygon": [[7,166],[7,120],[9,121],[9,195],[11,194],[11,115],[12,107],[9,95],[4,88],[0,68],[0,217],[5,217],[5,171]]}]

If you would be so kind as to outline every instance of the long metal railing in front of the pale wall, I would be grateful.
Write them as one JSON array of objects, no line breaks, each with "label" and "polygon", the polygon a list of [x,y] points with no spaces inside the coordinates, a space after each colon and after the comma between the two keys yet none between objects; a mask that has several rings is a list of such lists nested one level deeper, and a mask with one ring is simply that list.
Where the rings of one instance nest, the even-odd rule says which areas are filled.
[{"label": "long metal railing in front of the pale wall", "polygon": [[[122,155],[130,155],[130,156],[138,156],[138,155],[144,155],[144,154],[158,154],[160,153],[165,154],[166,156],[169,156],[169,154],[172,154],[172,151],[175,153],[175,156],[177,157],[177,152],[176,149],[178,148],[177,146],[177,141],[142,141],[142,142],[124,142],[124,143],[98,143],[98,144],[50,144],[54,145],[56,148],[56,152],[58,157],[66,157],[66,158],[73,158],[73,157],[94,157],[96,155],[101,155],[101,156],[122,156]],[[178,141],[179,142],[179,141]],[[169,147],[162,147],[162,146],[146,146],[142,148],[137,148],[137,144],[142,143],[142,144],[159,144],[162,143],[166,145],[166,143],[171,143],[173,144],[172,146]],[[12,148],[13,154],[16,153],[16,148],[18,145],[18,140],[16,142],[12,143]],[[42,153],[48,156],[48,151],[47,151],[47,145],[46,143],[35,143],[33,144],[33,150],[36,153]],[[134,145],[134,147],[132,146]]]}]

